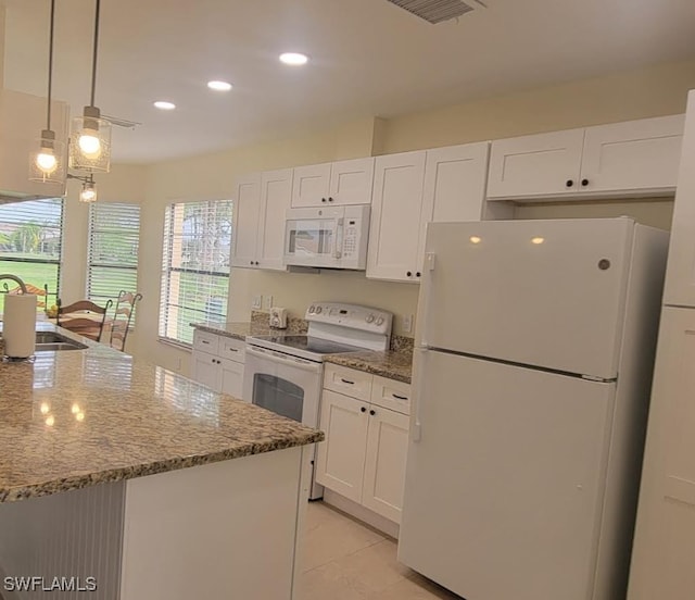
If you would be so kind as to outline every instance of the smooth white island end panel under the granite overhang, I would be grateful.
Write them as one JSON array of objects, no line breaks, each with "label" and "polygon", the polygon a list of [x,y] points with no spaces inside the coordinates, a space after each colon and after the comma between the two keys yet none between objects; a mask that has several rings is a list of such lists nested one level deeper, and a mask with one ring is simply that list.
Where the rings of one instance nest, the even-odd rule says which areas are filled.
[{"label": "smooth white island end panel under the granite overhang", "polygon": [[303,448],[129,479],[121,600],[291,600]]}]

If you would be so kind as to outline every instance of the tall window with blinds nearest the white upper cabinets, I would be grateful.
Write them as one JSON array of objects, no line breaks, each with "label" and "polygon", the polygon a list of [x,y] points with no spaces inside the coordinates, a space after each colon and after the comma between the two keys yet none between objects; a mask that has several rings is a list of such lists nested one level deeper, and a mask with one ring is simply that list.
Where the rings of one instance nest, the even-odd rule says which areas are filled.
[{"label": "tall window with blinds nearest the white upper cabinets", "polygon": [[190,345],[191,323],[227,314],[231,201],[180,202],[166,208],[160,297],[160,337]]}]

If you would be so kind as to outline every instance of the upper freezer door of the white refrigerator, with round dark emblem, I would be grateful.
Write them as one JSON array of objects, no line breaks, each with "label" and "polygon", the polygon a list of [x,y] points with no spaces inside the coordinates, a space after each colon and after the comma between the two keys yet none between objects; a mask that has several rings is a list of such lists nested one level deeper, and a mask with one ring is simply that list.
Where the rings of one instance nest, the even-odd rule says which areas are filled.
[{"label": "upper freezer door of the white refrigerator, with round dark emblem", "polygon": [[422,343],[615,377],[633,232],[629,218],[429,224]]}]

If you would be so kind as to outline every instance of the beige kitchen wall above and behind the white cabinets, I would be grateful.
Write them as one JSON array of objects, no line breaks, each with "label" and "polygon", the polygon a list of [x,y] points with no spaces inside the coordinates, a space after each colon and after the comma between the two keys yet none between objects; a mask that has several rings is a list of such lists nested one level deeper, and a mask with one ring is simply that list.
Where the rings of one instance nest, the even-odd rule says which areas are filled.
[{"label": "beige kitchen wall above and behind the white cabinets", "polygon": [[[526,90],[390,120],[365,118],[299,139],[151,165],[146,168],[142,188],[146,193],[139,278],[144,300],[139,309],[137,346],[131,345],[129,351],[166,367],[188,372],[188,352],[156,341],[163,217],[168,202],[232,198],[236,178],[258,171],[674,114],[684,111],[690,88],[695,88],[695,61]],[[142,182],[140,175],[138,170],[136,177],[126,179]],[[602,201],[529,204],[517,208],[516,216],[631,214],[643,223],[667,227],[671,210],[672,202],[668,200]],[[71,215],[70,226],[76,230],[84,217],[77,209],[73,209]],[[74,252],[79,255],[77,249]],[[232,270],[230,279],[228,312],[233,321],[248,320],[253,296],[273,295],[276,305],[287,307],[295,315],[303,314],[312,300],[348,300],[380,307],[396,313],[395,329],[403,333],[403,315],[414,314],[417,305],[417,285],[371,282],[362,273],[307,275]]]}]

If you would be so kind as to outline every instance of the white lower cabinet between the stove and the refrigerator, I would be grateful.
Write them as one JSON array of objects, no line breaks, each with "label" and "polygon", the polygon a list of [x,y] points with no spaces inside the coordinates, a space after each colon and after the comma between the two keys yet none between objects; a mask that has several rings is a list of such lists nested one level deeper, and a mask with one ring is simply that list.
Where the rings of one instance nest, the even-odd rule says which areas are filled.
[{"label": "white lower cabinet between the stove and the refrigerator", "polygon": [[[355,396],[348,396],[350,386]],[[316,480],[394,523],[403,505],[409,388],[331,364],[321,396],[326,440],[318,445]]]}]

